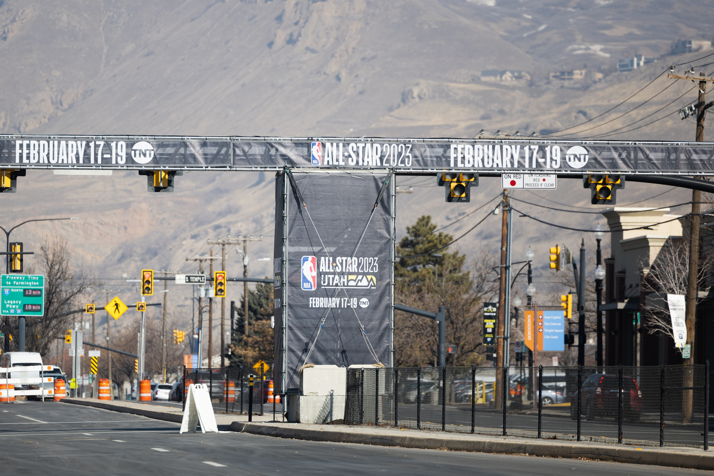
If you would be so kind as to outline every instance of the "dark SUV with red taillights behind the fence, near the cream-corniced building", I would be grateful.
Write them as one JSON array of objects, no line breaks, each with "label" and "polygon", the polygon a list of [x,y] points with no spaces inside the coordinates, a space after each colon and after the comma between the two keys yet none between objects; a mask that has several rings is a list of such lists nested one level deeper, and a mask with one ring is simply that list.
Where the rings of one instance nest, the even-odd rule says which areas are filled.
[{"label": "dark SUV with red taillights behind the fence, near the cream-corniced building", "polygon": [[[618,417],[618,375],[595,373],[583,382],[580,389],[581,410],[586,420],[596,417]],[[640,420],[642,413],[642,393],[634,378],[623,376],[623,417],[630,422]],[[570,418],[578,417],[578,392],[570,395]]]}]

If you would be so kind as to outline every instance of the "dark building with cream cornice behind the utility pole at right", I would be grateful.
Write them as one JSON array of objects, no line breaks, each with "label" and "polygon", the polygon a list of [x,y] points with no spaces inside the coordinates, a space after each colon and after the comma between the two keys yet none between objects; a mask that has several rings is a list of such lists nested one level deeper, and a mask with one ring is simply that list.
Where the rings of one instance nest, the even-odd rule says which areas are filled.
[{"label": "dark building with cream cornice behind the utility pole at right", "polygon": [[[605,296],[600,305],[605,317],[605,365],[682,363],[673,338],[662,331],[650,333],[648,328],[651,325],[648,310],[655,309],[663,320],[669,319],[666,292],[652,292],[652,273],[672,266],[687,247],[690,221],[670,215],[669,211],[669,208],[615,207],[602,212],[612,231],[612,255],[604,260]],[[674,221],[662,223],[673,218]],[[714,228],[714,219],[709,225]],[[649,229],[634,229],[643,226]],[[705,223],[702,236],[707,233],[712,233],[710,238],[714,237],[714,230],[708,231]],[[676,253],[680,253],[679,258]],[[683,263],[678,266],[682,268]],[[649,285],[646,280],[650,280]],[[694,342],[697,364],[705,360],[714,362],[714,295],[704,289],[709,285],[704,283],[699,291]]]}]

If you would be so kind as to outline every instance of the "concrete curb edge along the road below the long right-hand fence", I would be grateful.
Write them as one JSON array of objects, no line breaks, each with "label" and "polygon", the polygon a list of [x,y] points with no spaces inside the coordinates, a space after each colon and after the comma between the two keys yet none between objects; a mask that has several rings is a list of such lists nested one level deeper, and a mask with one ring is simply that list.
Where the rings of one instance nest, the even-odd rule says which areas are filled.
[{"label": "concrete curb edge along the road below the long right-hand fence", "polygon": [[518,455],[588,458],[590,460],[627,462],[638,465],[660,465],[685,467],[693,470],[714,470],[714,455],[698,455],[686,452],[650,450],[643,448],[623,448],[603,445],[568,445],[567,443],[546,443],[504,440],[468,440],[435,436],[379,435],[341,430],[311,430],[307,428],[286,428],[256,423],[232,422],[231,431],[251,433],[253,435],[296,440],[361,443],[363,445],[398,446],[438,450],[446,448],[453,451],[471,451],[485,453],[505,453]]}]

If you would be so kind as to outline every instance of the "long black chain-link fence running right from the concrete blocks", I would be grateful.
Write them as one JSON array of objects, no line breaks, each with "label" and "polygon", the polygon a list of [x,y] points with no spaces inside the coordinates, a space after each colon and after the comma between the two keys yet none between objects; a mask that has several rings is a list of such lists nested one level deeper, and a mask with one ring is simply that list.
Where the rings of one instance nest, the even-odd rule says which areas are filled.
[{"label": "long black chain-link fence running right from the concrete blocks", "polygon": [[708,414],[709,363],[347,370],[353,425],[708,449]]}]

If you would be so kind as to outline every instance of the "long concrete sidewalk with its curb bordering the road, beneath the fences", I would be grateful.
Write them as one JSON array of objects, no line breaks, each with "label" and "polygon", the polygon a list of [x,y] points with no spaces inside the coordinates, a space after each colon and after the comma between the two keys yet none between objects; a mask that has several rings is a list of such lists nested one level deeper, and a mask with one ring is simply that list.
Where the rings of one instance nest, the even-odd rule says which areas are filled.
[{"label": "long concrete sidewalk with its curb bordering the road, beneath the fences", "polygon": [[[139,402],[113,402],[106,400],[63,398],[65,403],[104,408],[116,412],[133,413],[156,420],[181,422],[181,403],[174,408],[157,407]],[[278,420],[280,420],[278,413]],[[368,425],[308,425],[304,423],[271,422],[273,415],[223,415],[216,413],[218,425],[229,425],[235,432],[251,433],[297,440],[361,443],[363,445],[422,448],[427,450],[471,451],[531,455],[588,460],[617,461],[640,465],[686,467],[693,470],[714,470],[714,451],[690,447],[633,447],[602,445],[591,442],[565,442],[534,440],[523,437],[470,435],[435,430],[400,430],[395,427]]]}]

